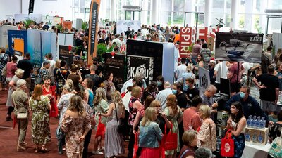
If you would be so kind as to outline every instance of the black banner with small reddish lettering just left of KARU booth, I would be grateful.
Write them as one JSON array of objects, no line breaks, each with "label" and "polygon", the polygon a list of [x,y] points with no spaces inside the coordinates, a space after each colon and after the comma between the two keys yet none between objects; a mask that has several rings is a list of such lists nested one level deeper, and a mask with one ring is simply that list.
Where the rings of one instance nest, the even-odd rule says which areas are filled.
[{"label": "black banner with small reddish lettering just left of KARU booth", "polygon": [[125,55],[116,54],[114,58],[111,53],[106,53],[105,73],[113,73],[114,85],[117,91],[121,91],[123,83],[125,82]]}]

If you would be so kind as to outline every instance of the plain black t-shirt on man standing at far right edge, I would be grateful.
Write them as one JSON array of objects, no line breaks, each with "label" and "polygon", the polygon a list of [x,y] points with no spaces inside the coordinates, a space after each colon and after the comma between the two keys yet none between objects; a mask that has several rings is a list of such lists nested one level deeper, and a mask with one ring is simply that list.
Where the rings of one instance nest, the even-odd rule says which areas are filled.
[{"label": "plain black t-shirt on man standing at far right edge", "polygon": [[266,101],[274,101],[276,100],[276,90],[275,88],[279,88],[279,79],[278,77],[272,74],[261,74],[257,78],[257,81],[261,82],[266,86],[266,88],[260,89],[260,99]]}]

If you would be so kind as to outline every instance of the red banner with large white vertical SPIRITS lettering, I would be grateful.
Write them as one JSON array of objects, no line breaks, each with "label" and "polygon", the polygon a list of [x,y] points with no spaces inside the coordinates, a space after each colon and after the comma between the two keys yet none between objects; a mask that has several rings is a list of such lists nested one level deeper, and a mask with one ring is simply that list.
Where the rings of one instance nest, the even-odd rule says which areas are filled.
[{"label": "red banner with large white vertical SPIRITS lettering", "polygon": [[[212,27],[197,27],[197,32],[196,27],[182,27],[180,29],[180,58],[186,57],[189,51],[189,46],[191,46],[192,43],[195,43],[197,39],[209,41],[209,37],[215,38],[215,32],[216,28]],[[212,44],[212,46],[214,45]]]}]

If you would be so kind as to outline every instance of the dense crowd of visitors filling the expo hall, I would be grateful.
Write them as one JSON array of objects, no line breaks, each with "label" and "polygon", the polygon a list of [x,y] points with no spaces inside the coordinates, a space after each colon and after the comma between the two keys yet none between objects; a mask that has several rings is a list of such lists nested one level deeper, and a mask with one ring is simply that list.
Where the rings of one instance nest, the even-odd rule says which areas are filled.
[{"label": "dense crowd of visitors filling the expo hall", "polygon": [[[20,24],[19,24],[20,25]],[[42,27],[44,28],[44,27]],[[126,46],[126,39],[175,42],[178,28],[152,25],[142,26],[134,32],[128,28],[125,34],[99,32],[99,43],[107,46],[115,44],[120,50]],[[84,44],[85,43],[85,44]],[[176,42],[177,43],[177,42]],[[75,45],[87,46],[87,33],[75,33]],[[176,44],[177,45],[177,44]],[[86,48],[86,47],[84,47]],[[12,112],[32,113],[32,143],[35,152],[48,152],[51,134],[50,117],[59,117],[56,138],[58,152],[66,152],[67,157],[87,157],[90,140],[94,140],[92,154],[117,157],[125,153],[124,141],[128,142],[128,157],[137,154],[149,157],[212,157],[216,154],[216,131],[219,103],[214,95],[221,89],[220,78],[231,82],[231,98],[223,105],[223,110],[231,115],[226,129],[231,129],[235,141],[235,156],[241,157],[245,148],[246,118],[250,115],[264,117],[266,126],[271,128],[269,137],[280,136],[282,112],[277,111],[279,91],[281,91],[281,56],[271,58],[271,46],[262,54],[261,64],[204,60],[203,50],[207,44],[198,39],[192,52],[181,58],[175,73],[175,83],[169,83],[159,76],[147,86],[143,74],[137,74],[116,91],[114,74],[104,74],[101,58],[93,58],[90,74],[82,76],[78,65],[64,60],[53,60],[52,54],[45,56],[42,67],[37,72],[35,87],[31,87],[33,73],[30,55],[23,60],[6,53],[1,48],[0,91],[8,84],[6,121],[11,121]],[[211,83],[202,95],[197,89],[199,67],[207,65]],[[238,69],[239,67],[239,69]],[[32,93],[30,92],[32,91]],[[259,91],[258,91],[259,90]],[[278,116],[278,117],[277,117]],[[17,150],[26,149],[25,136],[28,119],[18,119]],[[92,138],[92,131],[105,125],[104,135]],[[118,130],[123,125],[126,130]],[[166,141],[166,133],[177,133],[177,147],[162,150],[161,141]],[[104,138],[104,146],[103,146]],[[133,150],[135,143],[138,153]]]}]

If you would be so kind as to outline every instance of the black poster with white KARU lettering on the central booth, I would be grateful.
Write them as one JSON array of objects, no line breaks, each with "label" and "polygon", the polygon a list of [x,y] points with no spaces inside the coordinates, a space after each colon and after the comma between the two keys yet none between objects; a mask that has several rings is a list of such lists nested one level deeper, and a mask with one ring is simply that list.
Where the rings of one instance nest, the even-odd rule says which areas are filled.
[{"label": "black poster with white KARU lettering on the central booth", "polygon": [[128,75],[127,78],[133,78],[138,73],[144,75],[146,84],[153,81],[154,58],[136,55],[127,55],[128,60]]}]

